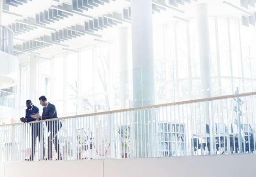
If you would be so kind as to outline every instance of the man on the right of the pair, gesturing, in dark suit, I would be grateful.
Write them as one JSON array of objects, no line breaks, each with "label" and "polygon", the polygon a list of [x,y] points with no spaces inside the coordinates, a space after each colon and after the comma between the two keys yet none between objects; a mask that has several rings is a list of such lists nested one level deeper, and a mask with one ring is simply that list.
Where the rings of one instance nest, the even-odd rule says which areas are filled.
[{"label": "man on the right of the pair, gesturing, in dark suit", "polygon": [[[39,97],[40,104],[43,106],[43,114],[40,116],[39,114],[31,115],[32,118],[40,118],[42,120],[58,118],[55,105],[48,103],[45,96]],[[48,137],[48,160],[52,160],[52,143],[54,143],[54,147],[58,156],[58,160],[62,160],[58,133],[62,127],[62,124],[59,120],[48,121],[46,122],[46,126],[48,132],[50,132],[50,136]]]}]

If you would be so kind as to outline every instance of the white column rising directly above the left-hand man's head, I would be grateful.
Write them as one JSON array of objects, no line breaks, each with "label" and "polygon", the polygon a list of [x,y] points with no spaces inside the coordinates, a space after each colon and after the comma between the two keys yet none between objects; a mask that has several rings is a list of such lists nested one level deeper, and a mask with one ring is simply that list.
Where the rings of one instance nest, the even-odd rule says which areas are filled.
[{"label": "white column rising directly above the left-hand man's head", "polygon": [[[35,55],[30,55],[30,86],[29,86],[29,99],[32,100],[33,103],[38,103],[38,68],[39,68],[39,59],[35,58]],[[41,96],[41,95],[40,95]]]}]

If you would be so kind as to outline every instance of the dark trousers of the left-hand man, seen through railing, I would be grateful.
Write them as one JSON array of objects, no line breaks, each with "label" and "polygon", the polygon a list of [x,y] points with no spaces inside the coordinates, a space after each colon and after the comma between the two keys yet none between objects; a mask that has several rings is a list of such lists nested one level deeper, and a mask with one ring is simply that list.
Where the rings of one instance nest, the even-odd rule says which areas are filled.
[{"label": "dark trousers of the left-hand man, seen through railing", "polygon": [[[36,148],[36,142],[37,142],[37,137],[39,140],[39,143],[41,143],[41,133],[40,133],[40,123],[32,123],[30,124],[30,128],[32,130],[32,147],[31,147],[31,155],[29,160],[34,160],[35,157],[35,148]],[[43,135],[42,135],[43,136]],[[44,148],[44,136],[43,136],[43,157],[45,155],[45,148]]]}]

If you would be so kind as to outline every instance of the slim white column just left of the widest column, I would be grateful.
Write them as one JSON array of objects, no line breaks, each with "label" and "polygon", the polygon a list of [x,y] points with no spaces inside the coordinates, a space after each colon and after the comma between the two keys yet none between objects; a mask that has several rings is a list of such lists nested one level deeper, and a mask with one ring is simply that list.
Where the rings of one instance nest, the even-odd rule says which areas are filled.
[{"label": "slim white column just left of the widest column", "polygon": [[128,27],[121,27],[119,29],[121,109],[127,108],[129,99],[128,32]]}]

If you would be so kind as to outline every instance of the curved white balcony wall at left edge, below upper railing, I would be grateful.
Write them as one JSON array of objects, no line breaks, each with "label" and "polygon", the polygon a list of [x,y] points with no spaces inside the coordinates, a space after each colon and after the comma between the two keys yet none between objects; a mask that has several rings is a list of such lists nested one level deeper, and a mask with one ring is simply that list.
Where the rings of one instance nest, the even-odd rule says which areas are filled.
[{"label": "curved white balcony wall at left edge, below upper railing", "polygon": [[0,51],[0,89],[16,84],[19,73],[17,57]]}]

